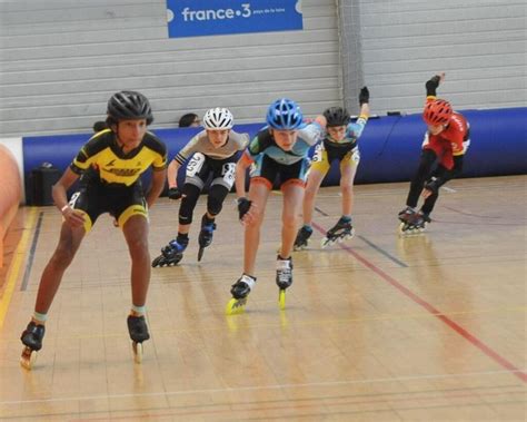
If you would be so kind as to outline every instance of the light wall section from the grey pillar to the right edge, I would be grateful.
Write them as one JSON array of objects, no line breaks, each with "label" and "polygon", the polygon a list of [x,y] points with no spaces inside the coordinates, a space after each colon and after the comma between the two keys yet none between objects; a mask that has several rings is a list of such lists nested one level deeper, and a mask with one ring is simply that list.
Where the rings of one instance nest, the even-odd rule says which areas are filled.
[{"label": "light wall section from the grey pillar to the right edge", "polygon": [[437,71],[447,72],[438,95],[458,109],[527,106],[525,0],[339,3],[342,38],[359,50],[344,51],[350,108],[367,84],[374,112],[420,111],[425,81]]}]

